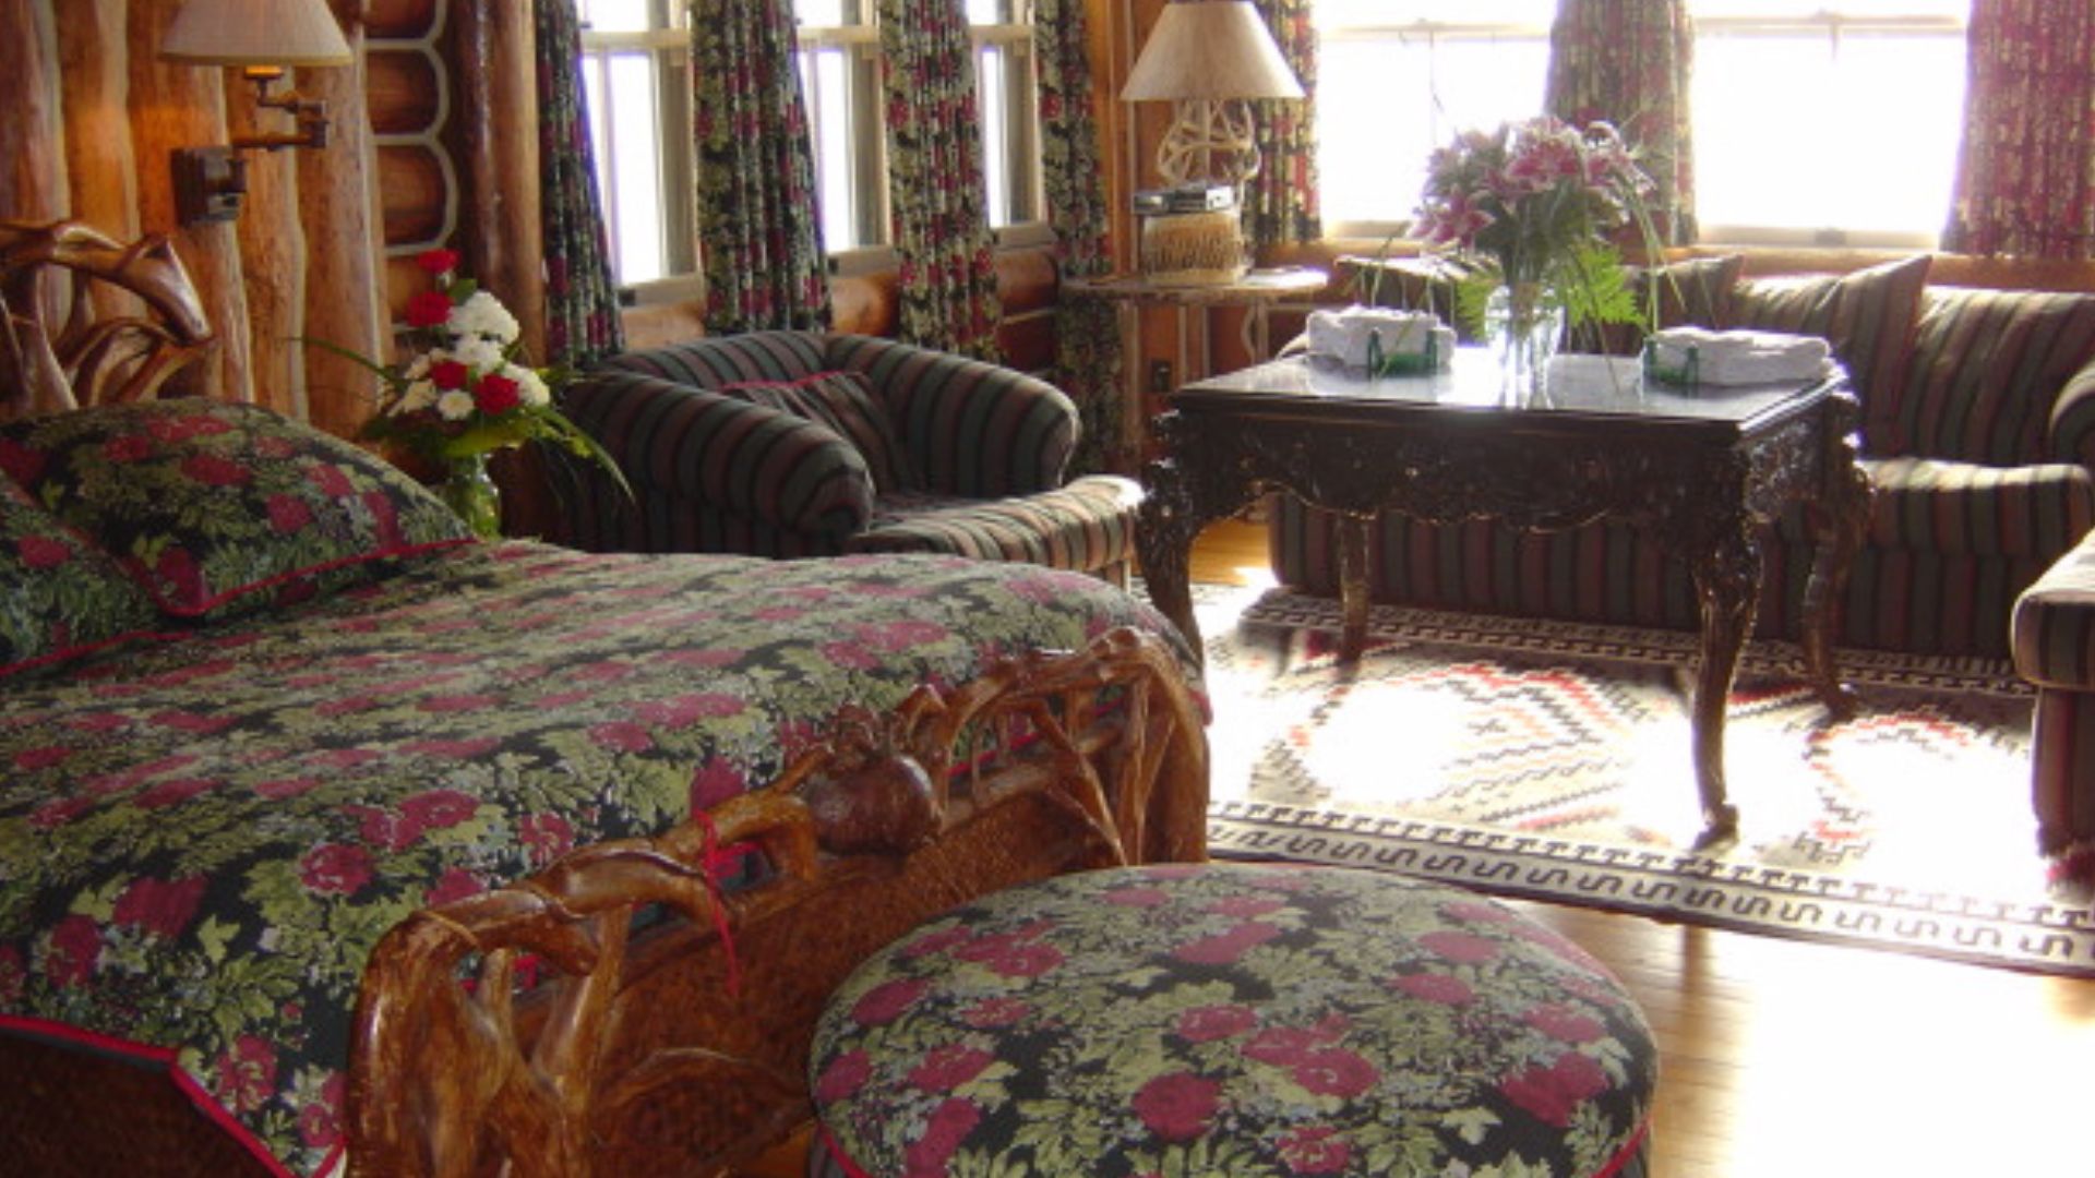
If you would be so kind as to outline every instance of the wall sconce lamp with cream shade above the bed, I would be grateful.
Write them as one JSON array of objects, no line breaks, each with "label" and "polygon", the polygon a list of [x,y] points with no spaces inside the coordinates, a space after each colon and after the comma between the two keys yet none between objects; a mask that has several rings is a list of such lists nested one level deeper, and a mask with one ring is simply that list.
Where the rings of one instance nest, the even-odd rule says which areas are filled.
[{"label": "wall sconce lamp with cream shade above the bed", "polygon": [[159,42],[161,61],[239,65],[256,107],[291,115],[293,132],[241,134],[228,147],[174,151],[174,212],[182,224],[235,220],[247,197],[241,151],[327,147],[327,103],[295,90],[270,94],[287,67],[348,65],[350,42],[327,0],[189,0]]}]

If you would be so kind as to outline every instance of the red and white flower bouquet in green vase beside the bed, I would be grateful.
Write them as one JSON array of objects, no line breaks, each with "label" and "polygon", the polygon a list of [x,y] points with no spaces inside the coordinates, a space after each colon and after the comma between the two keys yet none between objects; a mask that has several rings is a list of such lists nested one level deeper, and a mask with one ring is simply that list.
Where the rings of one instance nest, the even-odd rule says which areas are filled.
[{"label": "red and white flower bouquet in green vase beside the bed", "polygon": [[494,451],[524,442],[553,444],[599,463],[624,486],[612,455],[553,405],[570,373],[526,361],[515,317],[473,279],[459,275],[459,254],[427,249],[415,262],[434,289],[406,304],[413,352],[404,363],[379,365],[316,342],[379,377],[377,409],[358,436],[400,446],[444,472],[438,495],[482,539],[501,535],[501,490],[488,474]]}]

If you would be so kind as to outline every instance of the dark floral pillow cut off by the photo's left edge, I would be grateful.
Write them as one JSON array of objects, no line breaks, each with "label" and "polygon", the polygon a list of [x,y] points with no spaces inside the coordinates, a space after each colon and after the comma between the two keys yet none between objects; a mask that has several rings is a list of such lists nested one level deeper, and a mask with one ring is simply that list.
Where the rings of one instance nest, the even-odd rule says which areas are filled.
[{"label": "dark floral pillow cut off by the photo's left edge", "polygon": [[0,478],[0,675],[149,631],[159,612],[115,562]]}]

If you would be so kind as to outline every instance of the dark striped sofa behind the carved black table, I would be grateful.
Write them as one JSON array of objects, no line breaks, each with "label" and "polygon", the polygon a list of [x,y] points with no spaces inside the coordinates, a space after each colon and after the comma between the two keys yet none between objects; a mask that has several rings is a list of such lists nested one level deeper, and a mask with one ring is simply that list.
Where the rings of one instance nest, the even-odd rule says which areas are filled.
[{"label": "dark striped sofa behind the carved black table", "polygon": [[[2009,610],[2095,524],[2095,293],[1927,285],[1929,256],[1848,275],[1739,277],[1695,321],[1831,340],[1862,398],[1875,486],[1842,602],[1846,646],[2007,658]],[[1795,637],[1812,549],[1802,514],[1762,537],[1756,635]],[[1274,505],[1282,583],[1337,593],[1337,528]],[[1494,522],[1370,528],[1376,602],[1613,625],[1697,627],[1686,568],[1624,524],[1517,532]]]}]

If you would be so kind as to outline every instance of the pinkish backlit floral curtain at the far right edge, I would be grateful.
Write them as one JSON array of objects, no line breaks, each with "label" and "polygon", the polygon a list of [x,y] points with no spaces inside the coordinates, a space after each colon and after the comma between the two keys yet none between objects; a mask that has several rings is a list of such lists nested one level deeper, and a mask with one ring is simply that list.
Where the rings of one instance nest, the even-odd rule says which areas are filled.
[{"label": "pinkish backlit floral curtain at the far right edge", "polygon": [[2095,258],[2095,6],[1971,4],[1944,249]]}]

